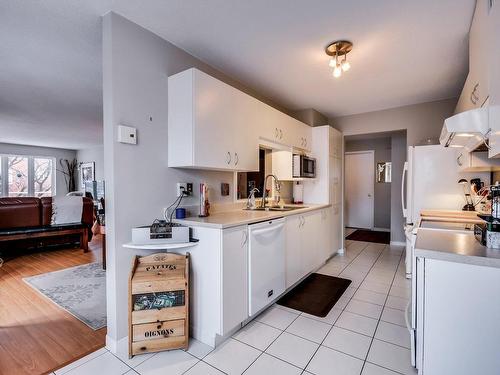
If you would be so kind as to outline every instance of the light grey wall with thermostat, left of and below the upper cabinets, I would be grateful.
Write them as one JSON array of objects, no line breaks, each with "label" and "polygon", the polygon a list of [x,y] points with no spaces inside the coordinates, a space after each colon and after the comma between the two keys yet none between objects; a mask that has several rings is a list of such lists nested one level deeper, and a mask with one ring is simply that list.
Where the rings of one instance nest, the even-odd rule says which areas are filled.
[{"label": "light grey wall with thermostat, left of and below the upper cabinets", "polygon": [[[151,223],[175,197],[176,182],[208,183],[210,200],[232,202],[220,195],[220,183],[230,184],[231,172],[167,167],[167,78],[197,67],[238,88],[237,82],[183,50],[125,18],[103,17],[104,179],[107,225],[107,345],[126,350],[127,280],[134,255],[123,248],[131,228]],[[249,91],[249,90],[245,90]],[[150,121],[152,117],[152,121]],[[137,128],[138,144],[115,141],[118,124]],[[216,145],[214,145],[216,147]],[[197,204],[198,197],[187,205]]]}]

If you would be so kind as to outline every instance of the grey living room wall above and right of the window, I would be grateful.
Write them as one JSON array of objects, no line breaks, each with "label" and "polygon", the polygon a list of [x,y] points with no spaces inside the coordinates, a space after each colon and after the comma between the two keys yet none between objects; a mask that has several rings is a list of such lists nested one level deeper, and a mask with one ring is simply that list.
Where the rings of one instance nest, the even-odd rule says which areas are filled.
[{"label": "grey living room wall above and right of the window", "polygon": [[59,170],[61,169],[59,160],[73,160],[74,158],[76,158],[75,150],[0,143],[0,154],[50,156],[56,158],[56,195],[66,195],[68,193],[68,189],[64,181],[64,174],[59,172]]}]

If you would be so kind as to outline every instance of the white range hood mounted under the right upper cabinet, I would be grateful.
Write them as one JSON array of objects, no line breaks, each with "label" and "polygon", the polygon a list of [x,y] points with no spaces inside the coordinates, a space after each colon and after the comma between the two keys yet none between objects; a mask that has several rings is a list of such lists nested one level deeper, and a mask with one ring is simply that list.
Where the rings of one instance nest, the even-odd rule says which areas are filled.
[{"label": "white range hood mounted under the right upper cabinet", "polygon": [[444,120],[439,142],[444,147],[463,147],[474,151],[483,145],[488,132],[488,107],[471,109]]}]

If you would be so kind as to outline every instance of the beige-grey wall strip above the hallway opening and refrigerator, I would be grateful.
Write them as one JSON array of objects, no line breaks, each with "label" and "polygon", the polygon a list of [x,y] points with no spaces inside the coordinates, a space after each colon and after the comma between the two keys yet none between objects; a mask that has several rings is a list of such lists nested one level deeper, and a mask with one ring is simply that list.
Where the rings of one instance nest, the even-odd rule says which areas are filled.
[{"label": "beige-grey wall strip above the hallway opening and refrigerator", "polygon": [[415,146],[427,138],[439,139],[443,121],[453,114],[457,99],[337,117],[330,120],[344,135],[406,130],[407,145]]}]

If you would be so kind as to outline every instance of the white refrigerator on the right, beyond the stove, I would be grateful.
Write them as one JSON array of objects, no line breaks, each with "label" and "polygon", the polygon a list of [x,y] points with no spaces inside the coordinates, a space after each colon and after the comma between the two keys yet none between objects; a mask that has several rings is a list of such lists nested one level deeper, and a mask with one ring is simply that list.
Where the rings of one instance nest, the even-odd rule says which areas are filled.
[{"label": "white refrigerator on the right, beyond the stove", "polygon": [[414,242],[420,211],[461,210],[465,204],[462,185],[458,180],[481,178],[489,183],[488,172],[463,173],[457,164],[454,148],[441,145],[408,147],[403,169],[401,195],[403,216],[406,220],[406,277],[411,277],[411,247]]}]

